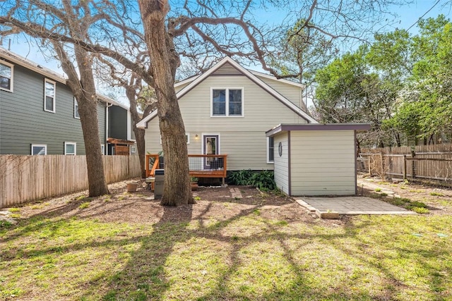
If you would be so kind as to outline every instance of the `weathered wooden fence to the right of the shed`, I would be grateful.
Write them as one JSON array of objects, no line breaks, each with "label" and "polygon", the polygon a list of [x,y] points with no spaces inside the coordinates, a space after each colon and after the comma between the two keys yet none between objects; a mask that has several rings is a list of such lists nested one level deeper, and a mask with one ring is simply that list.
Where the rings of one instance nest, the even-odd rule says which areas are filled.
[{"label": "weathered wooden fence to the right of the shed", "polygon": [[452,186],[452,145],[364,149],[358,171],[381,178],[428,180]]}]

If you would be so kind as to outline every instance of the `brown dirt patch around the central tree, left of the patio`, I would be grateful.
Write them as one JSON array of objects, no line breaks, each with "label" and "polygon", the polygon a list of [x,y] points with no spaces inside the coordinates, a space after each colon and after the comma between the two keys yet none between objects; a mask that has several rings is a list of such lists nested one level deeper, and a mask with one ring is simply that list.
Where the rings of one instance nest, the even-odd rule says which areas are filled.
[{"label": "brown dirt patch around the central tree, left of the patio", "polygon": [[[20,218],[31,216],[78,216],[107,222],[156,223],[190,221],[192,219],[227,220],[258,210],[265,218],[286,221],[314,221],[314,217],[290,197],[256,188],[230,185],[227,188],[199,187],[194,191],[196,204],[162,207],[153,199],[153,192],[138,185],[136,192],[127,192],[124,181],[109,185],[111,195],[88,198],[85,192],[44,199],[20,208]],[[237,197],[239,194],[241,197]],[[337,221],[336,223],[340,223]]]}]

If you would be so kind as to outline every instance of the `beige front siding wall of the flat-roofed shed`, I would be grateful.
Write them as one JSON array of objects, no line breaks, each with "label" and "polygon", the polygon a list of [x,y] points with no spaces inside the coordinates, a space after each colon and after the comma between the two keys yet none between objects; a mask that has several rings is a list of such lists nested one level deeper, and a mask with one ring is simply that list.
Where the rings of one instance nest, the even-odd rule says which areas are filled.
[{"label": "beige front siding wall of the flat-roofed shed", "polygon": [[291,131],[292,195],[355,195],[353,130]]}]

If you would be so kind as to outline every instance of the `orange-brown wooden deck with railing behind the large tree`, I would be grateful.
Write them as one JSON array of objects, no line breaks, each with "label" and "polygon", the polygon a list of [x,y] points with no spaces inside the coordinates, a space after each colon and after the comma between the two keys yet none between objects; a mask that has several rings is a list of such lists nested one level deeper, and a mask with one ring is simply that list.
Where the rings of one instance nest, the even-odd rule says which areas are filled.
[{"label": "orange-brown wooden deck with railing behind the large tree", "polygon": [[[153,177],[159,169],[158,154],[146,154],[146,177]],[[189,174],[196,178],[222,178],[227,174],[227,154],[189,154]]]}]

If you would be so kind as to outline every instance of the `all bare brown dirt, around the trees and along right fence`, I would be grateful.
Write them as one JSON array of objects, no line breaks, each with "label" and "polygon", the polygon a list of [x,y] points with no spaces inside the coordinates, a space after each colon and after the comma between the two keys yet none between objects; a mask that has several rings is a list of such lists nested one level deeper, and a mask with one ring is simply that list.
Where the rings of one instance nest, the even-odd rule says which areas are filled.
[{"label": "all bare brown dirt, around the trees and along right fence", "polygon": [[[193,219],[227,220],[258,210],[264,218],[285,221],[319,222],[306,209],[290,197],[270,192],[260,192],[255,188],[230,185],[227,188],[200,187],[194,191],[196,204],[181,207],[162,207],[153,199],[153,192],[145,188],[141,180],[136,192],[127,192],[126,183],[131,180],[109,185],[111,195],[88,198],[88,192],[78,192],[20,208],[20,218],[31,216],[78,216],[107,222],[156,223],[162,221],[191,221]],[[430,187],[418,183],[389,183],[375,178],[359,178],[359,195],[379,197],[391,191],[396,196],[428,205],[429,214],[452,214],[452,190]],[[237,197],[239,195],[239,197]],[[381,196],[380,196],[381,197]],[[381,197],[384,199],[385,197]],[[347,223],[349,217],[340,221],[322,220],[321,223],[338,226]]]}]

